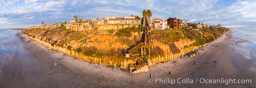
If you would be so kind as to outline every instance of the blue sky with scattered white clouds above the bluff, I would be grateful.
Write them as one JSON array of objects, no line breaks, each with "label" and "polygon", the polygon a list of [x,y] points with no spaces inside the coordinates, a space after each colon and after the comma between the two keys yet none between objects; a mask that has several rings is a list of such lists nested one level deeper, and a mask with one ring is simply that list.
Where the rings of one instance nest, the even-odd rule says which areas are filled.
[{"label": "blue sky with scattered white clouds above the bluff", "polygon": [[256,0],[0,0],[0,29],[78,19],[138,15],[180,18],[228,28],[256,29]]}]

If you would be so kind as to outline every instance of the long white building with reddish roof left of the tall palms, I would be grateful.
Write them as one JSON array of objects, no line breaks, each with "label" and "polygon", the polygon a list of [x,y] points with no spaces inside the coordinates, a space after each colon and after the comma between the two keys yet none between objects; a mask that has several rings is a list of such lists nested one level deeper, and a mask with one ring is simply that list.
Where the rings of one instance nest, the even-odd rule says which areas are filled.
[{"label": "long white building with reddish roof left of the tall palms", "polygon": [[98,21],[97,28],[99,30],[124,29],[132,26],[139,27],[140,25],[141,20],[134,16],[124,16],[123,18],[105,17]]}]

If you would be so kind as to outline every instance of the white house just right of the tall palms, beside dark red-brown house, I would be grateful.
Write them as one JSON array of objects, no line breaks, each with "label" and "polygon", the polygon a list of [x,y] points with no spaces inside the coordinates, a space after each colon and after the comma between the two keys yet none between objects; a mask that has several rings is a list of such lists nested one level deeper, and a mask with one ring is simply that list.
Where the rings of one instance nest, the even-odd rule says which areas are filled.
[{"label": "white house just right of the tall palms, beside dark red-brown house", "polygon": [[167,26],[167,20],[164,19],[150,19],[150,25],[154,29],[169,29],[169,26]]}]

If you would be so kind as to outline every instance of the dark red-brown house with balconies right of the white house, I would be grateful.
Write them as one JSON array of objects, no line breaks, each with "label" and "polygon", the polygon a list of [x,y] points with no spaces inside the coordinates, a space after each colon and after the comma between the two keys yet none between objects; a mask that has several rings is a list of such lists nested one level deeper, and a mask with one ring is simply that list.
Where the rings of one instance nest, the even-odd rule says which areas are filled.
[{"label": "dark red-brown house with balconies right of the white house", "polygon": [[181,29],[181,19],[178,18],[168,18],[167,25],[172,29]]}]

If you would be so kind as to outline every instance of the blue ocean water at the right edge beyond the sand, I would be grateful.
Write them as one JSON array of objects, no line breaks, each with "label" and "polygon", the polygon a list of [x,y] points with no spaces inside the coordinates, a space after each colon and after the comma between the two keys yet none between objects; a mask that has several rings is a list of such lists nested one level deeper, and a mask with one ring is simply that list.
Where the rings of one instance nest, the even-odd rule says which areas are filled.
[{"label": "blue ocean water at the right edge beyond the sand", "polygon": [[244,51],[248,59],[256,60],[256,29],[232,29],[236,47]]}]

